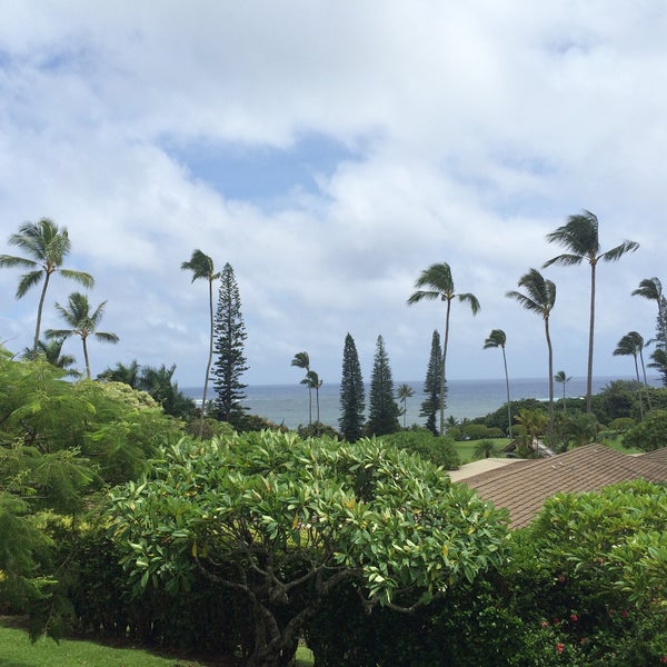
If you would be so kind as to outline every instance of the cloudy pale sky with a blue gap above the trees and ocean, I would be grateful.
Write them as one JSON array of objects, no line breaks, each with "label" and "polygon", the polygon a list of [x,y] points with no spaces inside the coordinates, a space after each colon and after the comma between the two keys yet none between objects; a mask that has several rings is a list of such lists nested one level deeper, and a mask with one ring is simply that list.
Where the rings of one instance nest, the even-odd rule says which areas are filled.
[{"label": "cloudy pale sky with a blue gap above the trees and ocean", "polygon": [[[298,382],[307,351],[338,382],[345,337],[365,379],[385,340],[395,382],[426,376],[445,305],[406,303],[451,267],[447,375],[547,377],[539,317],[505,295],[563,252],[546,235],[584,209],[603,251],[596,376],[630,376],[618,340],[655,332],[633,297],[667,257],[667,6],[658,0],[0,0],[0,253],[48,217],[64,267],[107,301],[93,375],[176,365],[200,386],[208,287],[192,250],[236,275],[248,385]],[[589,267],[550,267],[555,370],[586,375]],[[0,341],[30,345],[39,288],[0,270]],[[667,285],[667,282],[666,282]],[[43,328],[80,286],[56,276]],[[63,351],[82,367],[80,340]],[[655,372],[654,372],[655,375]]]}]

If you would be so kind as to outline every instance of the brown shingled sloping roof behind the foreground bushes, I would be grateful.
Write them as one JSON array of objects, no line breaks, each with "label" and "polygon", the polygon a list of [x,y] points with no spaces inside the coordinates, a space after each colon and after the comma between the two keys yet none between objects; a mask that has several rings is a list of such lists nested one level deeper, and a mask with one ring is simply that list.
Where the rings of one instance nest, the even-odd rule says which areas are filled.
[{"label": "brown shingled sloping roof behind the foreground bushes", "polygon": [[667,447],[629,456],[594,442],[459,479],[485,500],[507,508],[510,528],[521,528],[530,524],[547,498],[558,492],[593,491],[631,479],[667,481]]}]

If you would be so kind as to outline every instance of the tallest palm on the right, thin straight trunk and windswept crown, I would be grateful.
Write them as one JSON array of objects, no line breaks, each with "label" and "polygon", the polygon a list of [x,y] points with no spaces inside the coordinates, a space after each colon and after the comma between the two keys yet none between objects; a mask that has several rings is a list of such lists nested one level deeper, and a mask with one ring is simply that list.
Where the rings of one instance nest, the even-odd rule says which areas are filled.
[{"label": "tallest palm on the right, thin straight trunk and windswept crown", "polygon": [[588,375],[586,380],[586,411],[591,411],[593,397],[593,341],[595,329],[595,279],[599,261],[617,261],[627,252],[634,252],[639,243],[625,240],[619,246],[600,252],[598,219],[595,213],[584,210],[581,215],[569,216],[567,223],[547,235],[549,243],[558,243],[569,252],[546,261],[542,268],[551,265],[579,266],[584,260],[590,265],[590,320],[588,326]]}]

